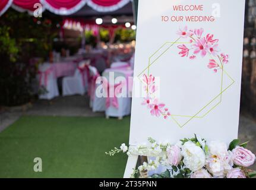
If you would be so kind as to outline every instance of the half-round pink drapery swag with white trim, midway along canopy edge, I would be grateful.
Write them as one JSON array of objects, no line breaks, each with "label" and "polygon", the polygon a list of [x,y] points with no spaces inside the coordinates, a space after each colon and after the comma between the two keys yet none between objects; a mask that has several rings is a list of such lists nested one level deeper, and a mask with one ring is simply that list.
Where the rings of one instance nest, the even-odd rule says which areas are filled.
[{"label": "half-round pink drapery swag with white trim, midway along canopy edge", "polygon": [[87,0],[40,0],[50,12],[58,15],[69,15],[80,10]]}]

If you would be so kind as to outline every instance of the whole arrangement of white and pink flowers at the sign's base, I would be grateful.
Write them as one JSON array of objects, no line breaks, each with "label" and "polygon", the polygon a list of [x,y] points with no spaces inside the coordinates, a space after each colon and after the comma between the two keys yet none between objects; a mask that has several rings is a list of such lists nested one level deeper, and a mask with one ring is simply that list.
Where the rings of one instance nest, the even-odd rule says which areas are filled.
[{"label": "whole arrangement of white and pink flowers at the sign's base", "polygon": [[[247,142],[248,143],[248,142]],[[148,144],[127,147],[122,144],[106,153],[114,156],[127,153],[155,157],[134,169],[132,178],[145,171],[166,167],[166,172],[148,176],[148,178],[253,178],[256,172],[249,170],[255,162],[255,155],[246,149],[247,143],[239,144],[233,140],[229,147],[220,141],[207,142],[197,135],[184,138],[175,145],[157,143],[148,138]]]}]

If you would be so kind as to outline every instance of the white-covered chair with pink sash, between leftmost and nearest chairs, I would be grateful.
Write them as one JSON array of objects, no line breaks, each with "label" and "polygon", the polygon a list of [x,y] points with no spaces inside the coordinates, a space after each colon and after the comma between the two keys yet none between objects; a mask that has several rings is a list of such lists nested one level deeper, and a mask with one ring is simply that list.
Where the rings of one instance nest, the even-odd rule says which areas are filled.
[{"label": "white-covered chair with pink sash, between leftmost and nearest chairs", "polygon": [[[79,67],[84,68],[87,62],[80,62]],[[88,89],[88,77],[86,71],[75,70],[72,77],[65,77],[62,81],[62,96],[72,96],[75,94],[84,95]]]}]

